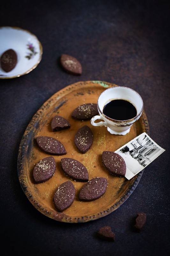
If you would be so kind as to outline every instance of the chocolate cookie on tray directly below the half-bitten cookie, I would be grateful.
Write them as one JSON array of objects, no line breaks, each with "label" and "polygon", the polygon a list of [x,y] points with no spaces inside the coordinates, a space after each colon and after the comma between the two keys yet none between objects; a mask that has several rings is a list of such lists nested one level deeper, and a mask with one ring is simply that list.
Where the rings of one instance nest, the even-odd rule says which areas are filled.
[{"label": "chocolate cookie on tray directly below the half-bitten cookie", "polygon": [[36,137],[36,142],[39,148],[41,148],[41,150],[44,151],[45,153],[52,155],[66,154],[66,150],[63,144],[55,138],[48,136],[38,136]]}]

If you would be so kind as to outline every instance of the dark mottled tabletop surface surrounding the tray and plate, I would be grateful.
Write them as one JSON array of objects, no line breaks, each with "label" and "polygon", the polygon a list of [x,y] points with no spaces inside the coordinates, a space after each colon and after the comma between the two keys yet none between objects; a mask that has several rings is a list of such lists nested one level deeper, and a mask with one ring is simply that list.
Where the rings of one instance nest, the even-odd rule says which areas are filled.
[{"label": "dark mottled tabletop surface surrounding the tray and plate", "polygon": [[[1,3],[0,26],[27,29],[43,46],[36,69],[0,79],[2,255],[169,254],[169,7],[166,0]],[[81,77],[61,69],[58,58],[63,53],[81,62]],[[87,80],[135,89],[144,100],[150,136],[166,151],[145,168],[135,191],[116,211],[88,223],[60,223],[37,211],[23,193],[18,148],[33,115],[49,97]],[[147,213],[140,234],[132,230],[137,212]],[[112,227],[114,243],[97,237],[103,226]]]}]

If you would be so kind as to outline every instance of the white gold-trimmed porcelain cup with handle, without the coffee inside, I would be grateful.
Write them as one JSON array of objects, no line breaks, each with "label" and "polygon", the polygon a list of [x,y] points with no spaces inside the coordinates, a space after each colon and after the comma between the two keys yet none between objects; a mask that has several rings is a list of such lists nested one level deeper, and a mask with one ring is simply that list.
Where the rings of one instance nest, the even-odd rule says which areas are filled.
[{"label": "white gold-trimmed porcelain cup with handle, without the coffee inside", "polygon": [[[114,100],[125,100],[136,108],[136,115],[128,120],[115,120],[103,113],[103,109],[107,103]],[[143,111],[143,100],[141,96],[129,87],[116,86],[110,87],[102,92],[98,99],[99,115],[91,119],[93,126],[106,126],[111,134],[126,135],[129,133],[131,126],[136,122]],[[112,110],[111,110],[112,111]],[[95,123],[96,120],[102,120]]]}]

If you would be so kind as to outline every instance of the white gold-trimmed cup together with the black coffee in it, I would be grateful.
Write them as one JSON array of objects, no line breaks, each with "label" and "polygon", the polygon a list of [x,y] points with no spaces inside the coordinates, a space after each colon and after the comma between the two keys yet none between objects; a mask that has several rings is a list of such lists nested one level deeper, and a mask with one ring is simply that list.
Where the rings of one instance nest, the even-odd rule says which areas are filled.
[{"label": "white gold-trimmed cup together with the black coffee in it", "polygon": [[93,126],[104,125],[111,134],[126,135],[142,114],[143,100],[129,87],[110,87],[100,94],[98,111],[99,115],[91,119]]}]

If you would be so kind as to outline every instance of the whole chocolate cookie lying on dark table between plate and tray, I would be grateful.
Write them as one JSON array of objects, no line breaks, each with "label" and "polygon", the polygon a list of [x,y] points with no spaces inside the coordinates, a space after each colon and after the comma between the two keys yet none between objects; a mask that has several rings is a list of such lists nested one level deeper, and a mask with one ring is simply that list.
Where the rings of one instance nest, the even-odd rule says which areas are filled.
[{"label": "whole chocolate cookie lying on dark table between plate and tray", "polygon": [[74,57],[62,54],[60,58],[61,65],[64,70],[73,75],[81,75],[82,74],[82,66],[81,63]]}]

